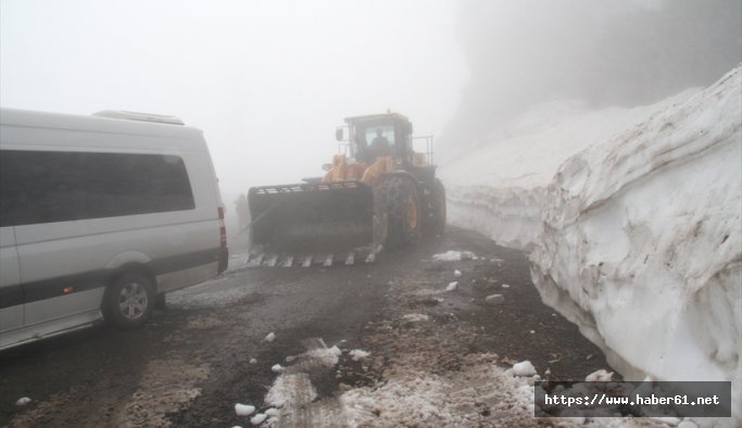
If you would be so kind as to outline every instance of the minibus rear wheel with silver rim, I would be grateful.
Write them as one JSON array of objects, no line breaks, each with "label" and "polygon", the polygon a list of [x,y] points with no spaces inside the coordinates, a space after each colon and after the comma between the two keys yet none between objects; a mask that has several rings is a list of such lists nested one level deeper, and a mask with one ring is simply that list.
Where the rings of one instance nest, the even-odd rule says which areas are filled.
[{"label": "minibus rear wheel with silver rim", "polygon": [[140,327],[152,315],[155,294],[143,275],[126,273],[105,290],[101,307],[106,322],[121,328]]}]

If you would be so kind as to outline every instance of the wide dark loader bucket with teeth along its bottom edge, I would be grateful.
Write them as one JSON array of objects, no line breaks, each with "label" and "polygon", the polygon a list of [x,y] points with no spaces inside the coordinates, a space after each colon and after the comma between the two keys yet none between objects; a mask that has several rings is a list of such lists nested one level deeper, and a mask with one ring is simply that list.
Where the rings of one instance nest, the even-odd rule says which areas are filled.
[{"label": "wide dark loader bucket with teeth along its bottom edge", "polygon": [[374,192],[359,181],[253,187],[248,201],[252,253],[339,257],[374,239]]}]

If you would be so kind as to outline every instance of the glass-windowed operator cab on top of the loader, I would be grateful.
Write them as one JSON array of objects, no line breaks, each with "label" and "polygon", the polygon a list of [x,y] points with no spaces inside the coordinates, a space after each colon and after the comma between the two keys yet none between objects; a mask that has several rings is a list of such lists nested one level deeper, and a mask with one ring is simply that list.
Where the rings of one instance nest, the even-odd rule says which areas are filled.
[{"label": "glass-windowed operator cab on top of the loader", "polygon": [[378,156],[393,156],[402,164],[412,162],[412,123],[399,113],[345,118],[350,155],[373,163]]}]

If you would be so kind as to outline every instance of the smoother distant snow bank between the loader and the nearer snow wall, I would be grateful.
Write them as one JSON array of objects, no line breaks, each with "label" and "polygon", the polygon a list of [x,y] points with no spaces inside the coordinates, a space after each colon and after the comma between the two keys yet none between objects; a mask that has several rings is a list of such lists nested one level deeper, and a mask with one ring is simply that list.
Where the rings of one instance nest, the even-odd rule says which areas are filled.
[{"label": "smoother distant snow bank between the loader and the nearer snow wall", "polygon": [[479,230],[503,246],[532,249],[541,235],[546,186],[564,161],[697,92],[689,89],[634,109],[590,111],[568,100],[530,110],[441,166],[449,223]]}]

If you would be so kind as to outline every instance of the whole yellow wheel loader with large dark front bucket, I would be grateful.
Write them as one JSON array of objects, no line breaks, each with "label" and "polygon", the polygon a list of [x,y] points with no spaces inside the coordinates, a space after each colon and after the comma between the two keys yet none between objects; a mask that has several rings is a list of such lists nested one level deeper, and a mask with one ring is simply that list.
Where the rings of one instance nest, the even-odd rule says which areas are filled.
[{"label": "whole yellow wheel loader with large dark front bucket", "polygon": [[[413,138],[399,113],[345,124],[336,131],[345,150],[324,166],[324,177],[250,189],[249,265],[370,263],[385,248],[443,232],[445,189],[436,178],[432,137]],[[413,150],[414,139],[424,150]]]}]

